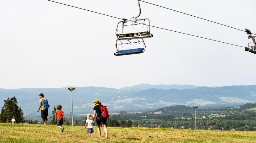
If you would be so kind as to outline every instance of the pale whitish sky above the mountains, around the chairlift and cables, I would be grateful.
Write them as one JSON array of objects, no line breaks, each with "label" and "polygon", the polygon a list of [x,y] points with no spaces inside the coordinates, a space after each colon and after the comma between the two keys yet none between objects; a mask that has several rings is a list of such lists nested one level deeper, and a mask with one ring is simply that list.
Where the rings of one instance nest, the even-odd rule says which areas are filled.
[{"label": "pale whitish sky above the mountains, around the chairlift and cables", "polygon": [[[256,33],[253,0],[145,0]],[[56,0],[111,16],[137,16],[135,0]],[[245,32],[141,2],[150,24],[235,45]],[[230,86],[256,84],[256,55],[154,27],[143,54],[114,56],[119,19],[46,0],[0,2],[0,88],[121,88],[141,83]],[[136,47],[135,47],[136,48]]]}]

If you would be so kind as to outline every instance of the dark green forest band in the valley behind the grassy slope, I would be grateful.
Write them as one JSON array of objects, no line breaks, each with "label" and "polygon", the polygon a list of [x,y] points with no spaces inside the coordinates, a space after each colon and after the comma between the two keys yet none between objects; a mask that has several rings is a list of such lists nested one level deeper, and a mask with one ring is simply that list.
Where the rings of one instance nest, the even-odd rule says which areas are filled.
[{"label": "dark green forest band in the valley behind the grassy slope", "polygon": [[[55,124],[54,107],[49,111],[49,124]],[[10,123],[12,114],[17,123],[42,124],[40,120],[25,120],[23,111],[15,97],[4,100],[0,113],[1,123]],[[71,125],[70,116],[66,116],[64,125]],[[239,107],[196,109],[197,129],[200,130],[256,130],[256,103],[246,103]],[[74,117],[76,126],[84,126],[85,116]],[[120,111],[110,114],[107,125],[110,127],[150,127],[195,129],[195,109],[184,105],[168,106],[150,112],[127,113]]]}]

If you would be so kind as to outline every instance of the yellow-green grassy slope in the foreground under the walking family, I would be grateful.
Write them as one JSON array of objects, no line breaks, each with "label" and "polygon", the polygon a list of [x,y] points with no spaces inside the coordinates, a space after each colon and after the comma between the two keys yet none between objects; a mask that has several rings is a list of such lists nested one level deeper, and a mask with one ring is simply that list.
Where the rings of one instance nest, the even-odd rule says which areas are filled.
[{"label": "yellow-green grassy slope in the foreground under the walking family", "polygon": [[212,131],[212,130],[182,130],[167,128],[108,128],[109,139],[91,139],[84,127],[65,126],[63,133],[55,125],[32,124],[0,124],[0,142],[255,142],[253,131]]}]

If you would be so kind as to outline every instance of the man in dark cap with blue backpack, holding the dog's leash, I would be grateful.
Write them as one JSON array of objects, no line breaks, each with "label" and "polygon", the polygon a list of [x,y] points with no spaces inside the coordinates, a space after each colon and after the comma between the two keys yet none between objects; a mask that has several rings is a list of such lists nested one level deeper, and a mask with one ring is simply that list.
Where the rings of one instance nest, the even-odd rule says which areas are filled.
[{"label": "man in dark cap with blue backpack, holding the dog's leash", "polygon": [[[44,121],[44,125],[47,125],[47,120],[48,120],[47,116],[48,116],[48,108],[49,108],[49,106],[46,106],[48,108],[45,108],[44,105],[48,104],[48,100],[46,98],[44,98],[44,94],[43,93],[39,94],[38,96],[39,96],[40,100],[39,100],[39,107],[38,107],[37,112],[39,112],[40,108],[42,108],[41,109],[41,117],[42,117],[42,119]],[[47,101],[47,102],[45,102],[45,101]]]}]

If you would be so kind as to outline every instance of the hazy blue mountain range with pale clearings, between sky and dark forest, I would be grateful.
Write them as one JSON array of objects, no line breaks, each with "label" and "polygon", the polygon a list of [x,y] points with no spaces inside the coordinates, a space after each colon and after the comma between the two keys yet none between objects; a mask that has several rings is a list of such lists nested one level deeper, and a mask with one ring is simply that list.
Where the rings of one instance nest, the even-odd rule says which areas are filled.
[{"label": "hazy blue mountain range with pale clearings, between sky and dark forest", "polygon": [[[62,105],[62,110],[71,112],[71,92],[63,88],[0,88],[0,107],[3,100],[15,96],[24,115],[38,109],[38,94],[44,93],[50,109]],[[194,85],[149,85],[140,84],[120,89],[106,87],[77,87],[73,91],[74,114],[92,112],[93,100],[99,99],[110,113],[121,110],[154,110],[172,105],[198,105],[201,107],[237,106],[256,102],[256,85],[201,87]],[[50,112],[49,112],[50,113]]]}]

